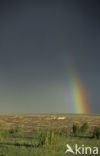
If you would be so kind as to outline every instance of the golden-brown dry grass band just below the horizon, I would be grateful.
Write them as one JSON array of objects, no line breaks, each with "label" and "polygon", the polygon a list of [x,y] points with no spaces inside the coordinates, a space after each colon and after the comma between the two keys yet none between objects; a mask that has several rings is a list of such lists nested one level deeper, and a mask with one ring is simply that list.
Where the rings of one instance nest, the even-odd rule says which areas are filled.
[{"label": "golden-brown dry grass band just below the horizon", "polygon": [[100,115],[69,115],[69,114],[1,114],[0,127],[8,130],[16,125],[25,132],[41,128],[71,128],[73,123],[89,124],[90,128],[100,126]]}]

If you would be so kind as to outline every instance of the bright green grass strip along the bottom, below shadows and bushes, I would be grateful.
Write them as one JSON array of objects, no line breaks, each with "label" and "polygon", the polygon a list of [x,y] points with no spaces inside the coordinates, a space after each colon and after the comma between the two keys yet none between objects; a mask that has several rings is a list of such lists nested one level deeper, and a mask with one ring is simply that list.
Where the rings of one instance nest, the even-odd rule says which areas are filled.
[{"label": "bright green grass strip along the bottom, below shadows and bushes", "polygon": [[[55,145],[50,145],[46,147],[25,147],[25,146],[14,146],[14,145],[4,145],[0,146],[0,156],[73,156],[72,153],[65,154],[66,151],[66,143],[68,143],[71,147],[74,146],[74,144],[78,144],[78,146],[82,146],[84,144],[85,146],[90,147],[99,147],[100,151],[100,141],[93,139],[79,139],[79,138],[63,138],[60,137]],[[74,147],[73,147],[74,148]],[[80,155],[80,154],[77,154]],[[84,156],[87,156],[90,154],[84,154]],[[92,154],[93,155],[93,154]],[[100,155],[100,152],[99,154]]]}]

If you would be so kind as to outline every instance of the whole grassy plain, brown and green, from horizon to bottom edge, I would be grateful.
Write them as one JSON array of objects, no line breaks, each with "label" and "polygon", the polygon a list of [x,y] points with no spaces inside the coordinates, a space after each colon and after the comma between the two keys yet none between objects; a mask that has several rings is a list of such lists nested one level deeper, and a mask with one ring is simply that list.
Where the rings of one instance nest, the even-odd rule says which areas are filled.
[{"label": "whole grassy plain, brown and green, from horizon to bottom edge", "polygon": [[[73,124],[84,123],[88,130],[74,135]],[[0,156],[65,156],[66,144],[73,149],[75,144],[96,146],[100,155],[100,139],[92,136],[99,126],[100,115],[1,114]]]}]

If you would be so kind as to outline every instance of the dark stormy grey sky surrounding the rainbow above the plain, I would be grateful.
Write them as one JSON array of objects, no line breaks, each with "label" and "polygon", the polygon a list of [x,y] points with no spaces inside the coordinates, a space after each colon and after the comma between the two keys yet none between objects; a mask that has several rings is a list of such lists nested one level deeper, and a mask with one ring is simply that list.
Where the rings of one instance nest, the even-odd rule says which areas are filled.
[{"label": "dark stormy grey sky surrounding the rainbow above the plain", "polygon": [[100,113],[100,1],[0,1],[0,113],[75,113],[75,71]]}]

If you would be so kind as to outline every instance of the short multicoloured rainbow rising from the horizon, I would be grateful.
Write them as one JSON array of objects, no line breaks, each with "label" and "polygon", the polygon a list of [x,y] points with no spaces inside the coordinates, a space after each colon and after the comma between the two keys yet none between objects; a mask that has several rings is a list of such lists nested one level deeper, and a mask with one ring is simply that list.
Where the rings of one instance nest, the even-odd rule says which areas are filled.
[{"label": "short multicoloured rainbow rising from the horizon", "polygon": [[74,109],[77,114],[88,114],[88,102],[86,98],[86,92],[79,79],[79,77],[73,72],[71,76],[71,88],[73,93]]}]

